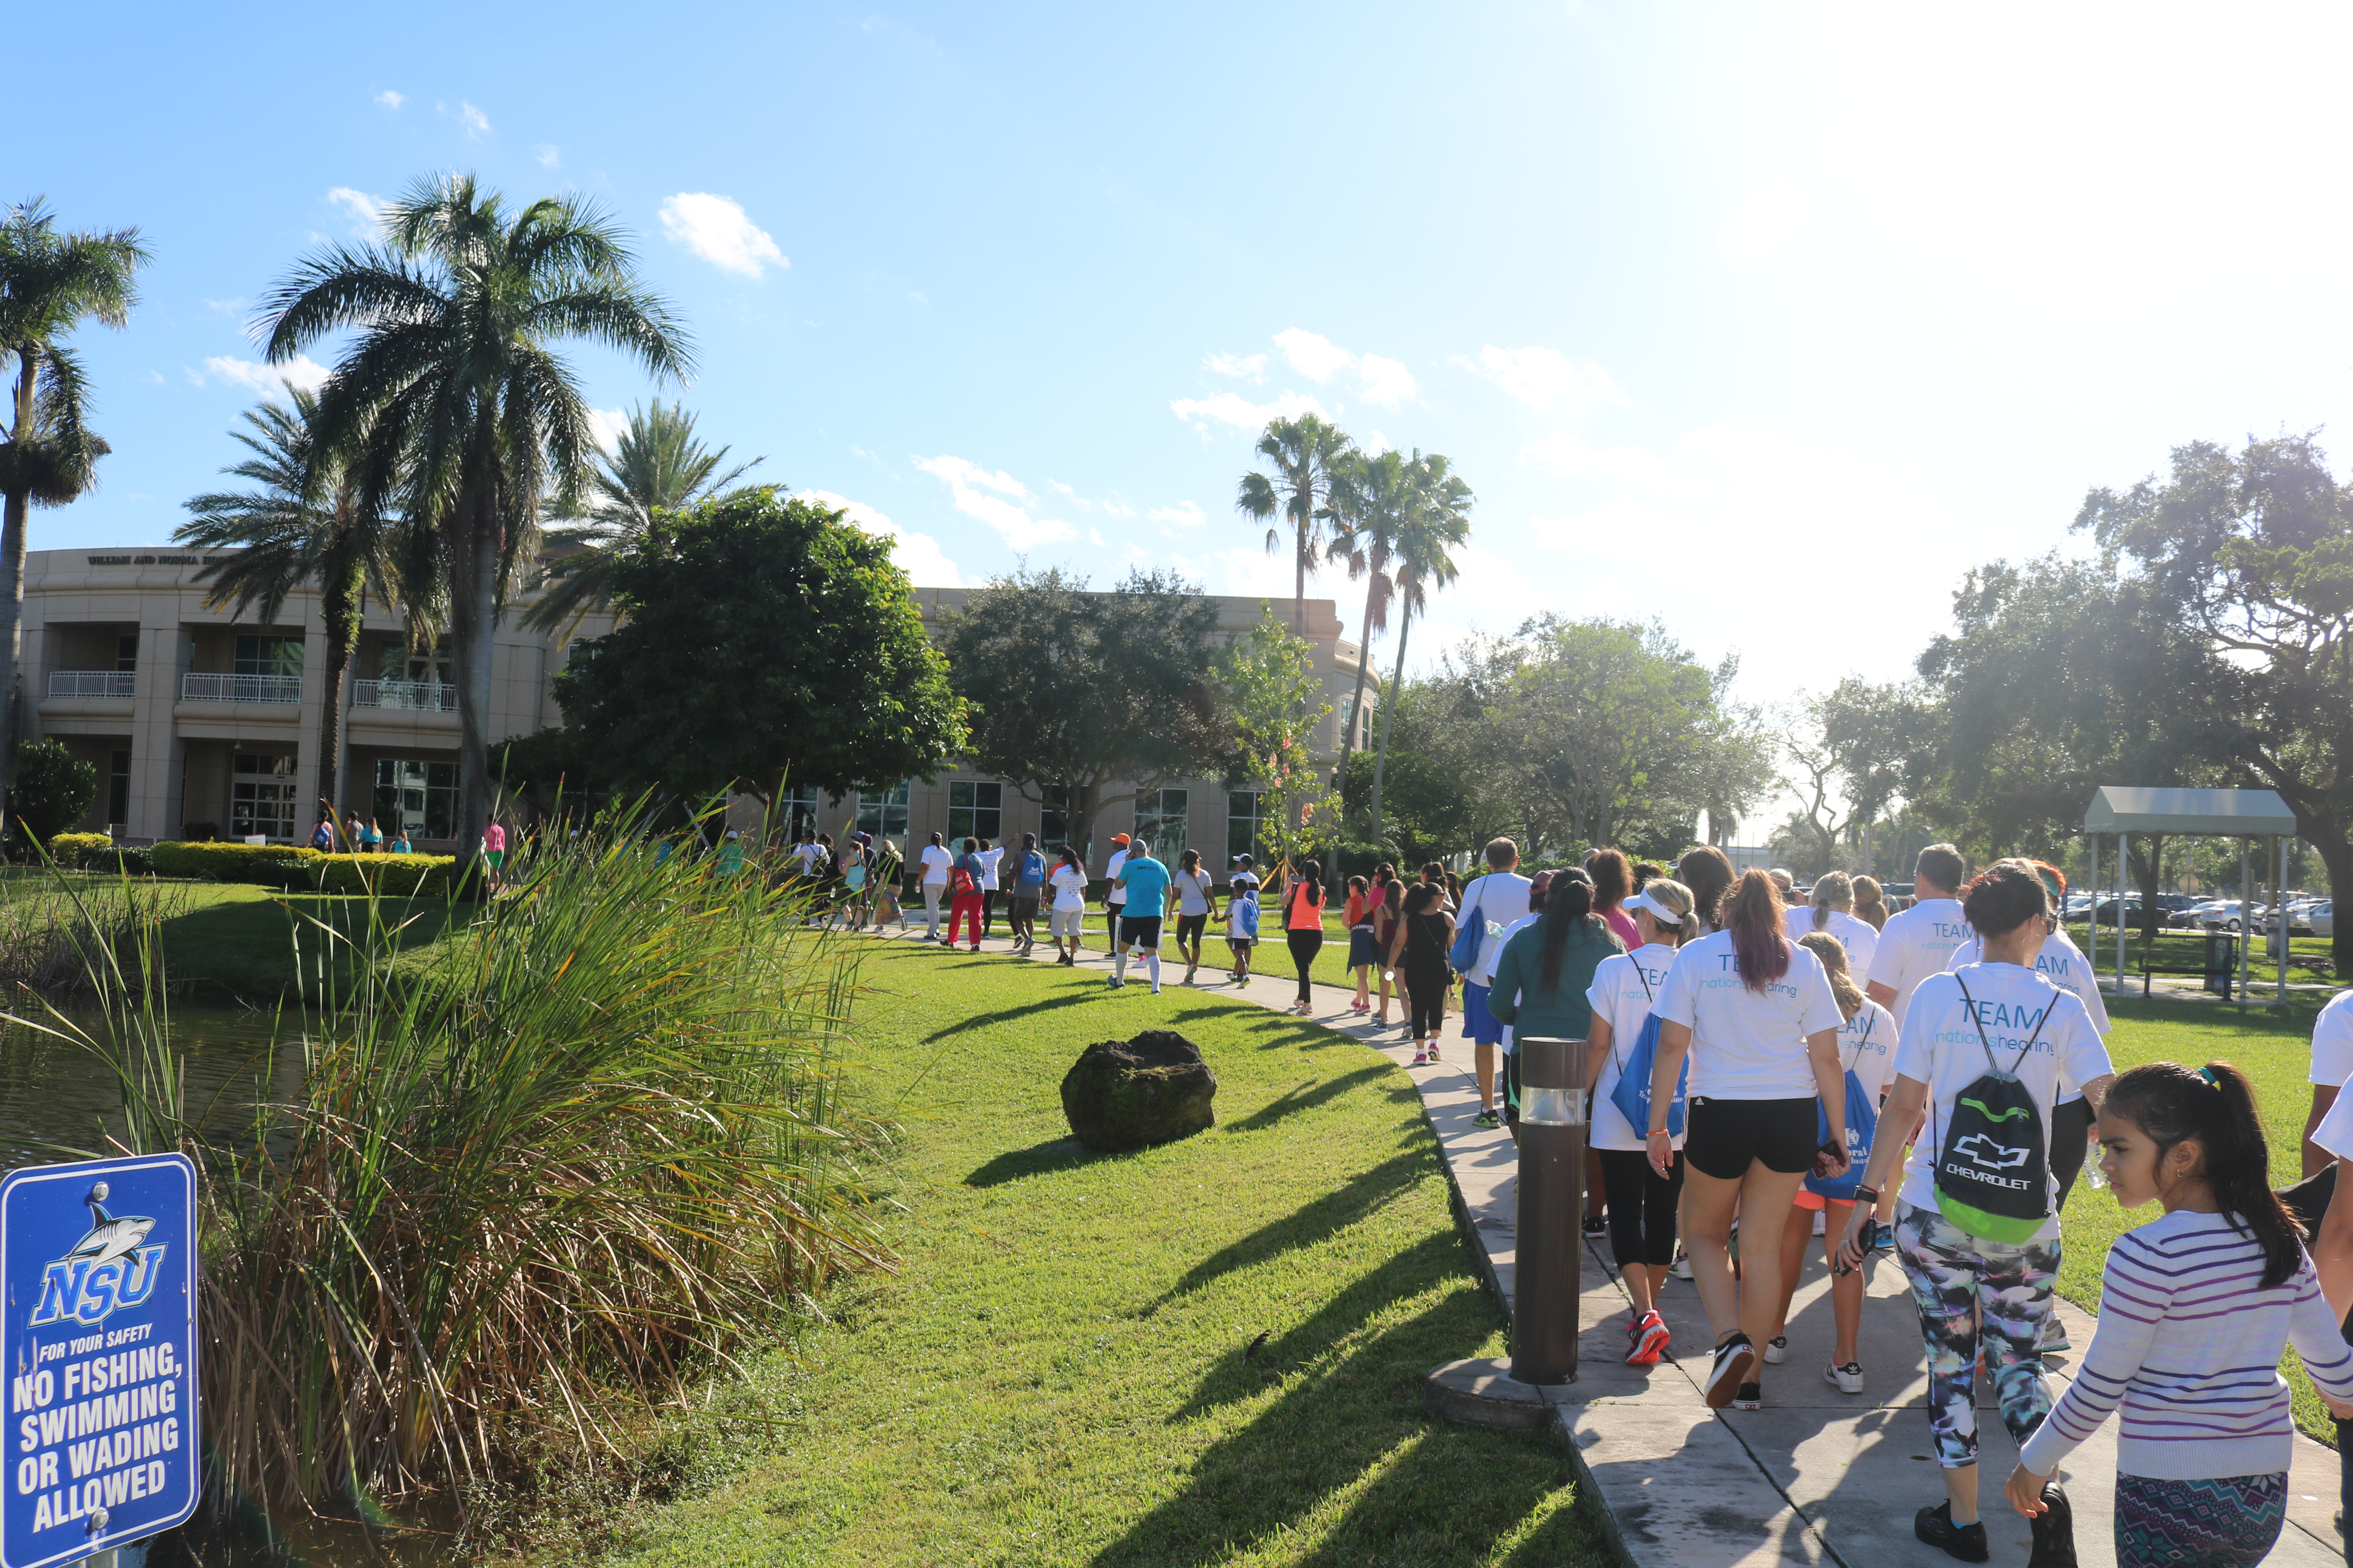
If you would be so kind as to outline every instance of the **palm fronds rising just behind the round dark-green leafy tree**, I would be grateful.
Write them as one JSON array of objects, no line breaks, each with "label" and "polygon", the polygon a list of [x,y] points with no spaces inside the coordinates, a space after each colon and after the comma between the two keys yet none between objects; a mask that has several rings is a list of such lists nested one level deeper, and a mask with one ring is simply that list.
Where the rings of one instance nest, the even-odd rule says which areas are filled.
[{"label": "palm fronds rising just behind the round dark-green leafy tree", "polygon": [[718,496],[767,461],[753,458],[718,473],[725,458],[727,447],[711,451],[694,440],[694,416],[685,404],[656,397],[652,409],[631,409],[616,449],[598,451],[598,468],[588,475],[595,491],[588,517],[576,527],[548,529],[548,545],[569,552],[541,569],[539,581],[548,592],[522,614],[522,623],[569,635],[581,616],[612,602],[612,564],[638,541],[661,538],[661,512]]}]

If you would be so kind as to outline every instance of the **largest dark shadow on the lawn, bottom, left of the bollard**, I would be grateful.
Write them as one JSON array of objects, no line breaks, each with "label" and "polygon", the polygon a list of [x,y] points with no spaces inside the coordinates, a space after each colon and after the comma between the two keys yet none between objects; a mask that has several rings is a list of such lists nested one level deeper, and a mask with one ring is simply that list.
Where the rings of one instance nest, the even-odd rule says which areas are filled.
[{"label": "largest dark shadow on the lawn, bottom, left of the bollard", "polygon": [[[1447,1237],[1407,1248],[1367,1288],[1334,1302],[1327,1333],[1344,1335],[1388,1302],[1457,1272]],[[1353,1319],[1346,1321],[1346,1319]],[[1384,1328],[1329,1366],[1294,1382],[1245,1427],[1209,1443],[1186,1467],[1184,1488],[1139,1519],[1094,1568],[1193,1568],[1224,1563],[1299,1528],[1332,1493],[1362,1483],[1306,1561],[1482,1563],[1529,1514],[1558,1507],[1560,1455],[1539,1436],[1445,1427],[1421,1413],[1421,1378],[1468,1354],[1497,1326],[1475,1288],[1447,1291],[1424,1312]],[[1294,1335],[1287,1335],[1294,1338]],[[1266,1352],[1261,1352],[1264,1356]],[[1252,1371],[1266,1387],[1285,1368]],[[1369,1483],[1365,1483],[1369,1472]],[[1558,1509],[1572,1514],[1572,1509]],[[1572,1519],[1569,1530],[1577,1528]],[[1553,1519],[1537,1535],[1560,1540],[1565,1561],[1600,1561]],[[1515,1561],[1529,1561],[1515,1554]],[[1562,1559],[1544,1559],[1562,1561]]]}]

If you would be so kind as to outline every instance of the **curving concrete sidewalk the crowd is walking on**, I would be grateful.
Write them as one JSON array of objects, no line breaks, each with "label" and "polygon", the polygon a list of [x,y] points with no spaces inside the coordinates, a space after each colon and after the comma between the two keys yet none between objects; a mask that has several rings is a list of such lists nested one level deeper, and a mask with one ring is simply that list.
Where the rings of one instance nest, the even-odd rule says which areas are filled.
[{"label": "curving concrete sidewalk the crowd is walking on", "polygon": [[[920,926],[894,936],[920,938]],[[1101,940],[1096,933],[1094,940]],[[1212,943],[1207,959],[1224,957]],[[1002,938],[984,952],[1007,952]],[[1172,947],[1174,950],[1174,947]],[[1282,959],[1287,954],[1264,952]],[[1052,961],[1040,954],[1033,961]],[[1082,969],[1108,971],[1089,954]],[[1141,966],[1129,966],[1136,990]],[[1205,964],[1198,983],[1174,985],[1181,964],[1162,964],[1162,994],[1205,992],[1282,1011],[1297,1001],[1292,973],[1259,973],[1235,987],[1224,969]],[[1351,992],[1313,987],[1311,1023],[1351,1034],[1400,1067],[1412,1060],[1405,1030],[1374,1030],[1348,1011]],[[1136,1023],[1151,1023],[1146,999]],[[1409,1070],[1421,1107],[1438,1133],[1447,1178],[1461,1204],[1480,1267],[1504,1312],[1513,1300],[1515,1157],[1511,1135],[1473,1124],[1478,1081],[1461,1018],[1447,1020],[1445,1060]],[[1588,1246],[1579,1302],[1579,1378],[1558,1413],[1558,1432],[1577,1455],[1581,1479],[1626,1556],[1640,1568],[1758,1568],[1781,1563],[1842,1563],[1894,1568],[1951,1563],[1913,1540],[1913,1512],[1944,1500],[1944,1483],[1927,1434],[1927,1363],[1904,1269],[1880,1255],[1868,1265],[1859,1354],[1866,1392],[1840,1394],[1826,1378],[1831,1359],[1831,1295],[1821,1241],[1807,1244],[1807,1267],[1791,1307],[1788,1361],[1762,1368],[1762,1410],[1708,1410],[1697,1375],[1708,1366],[1713,1335],[1699,1291],[1671,1281],[1661,1314],[1675,1333],[1673,1354],[1654,1368],[1624,1366],[1628,1302],[1609,1267],[1607,1246]],[[2059,1319],[2080,1352],[2092,1342],[2092,1316],[2059,1302]],[[2052,1394],[2064,1387],[2075,1356],[2045,1356]],[[1991,1389],[1979,1382],[1981,1519],[1995,1563],[2024,1563],[2028,1528],[2000,1497],[2017,1462]],[[2075,1507],[2075,1549],[2085,1568],[2113,1568],[2111,1509],[2115,1479],[2115,1420],[2075,1450],[2064,1469]],[[2287,1530],[2266,1559],[2282,1568],[2344,1566],[2332,1516],[2337,1455],[2297,1439],[2289,1472]]]}]

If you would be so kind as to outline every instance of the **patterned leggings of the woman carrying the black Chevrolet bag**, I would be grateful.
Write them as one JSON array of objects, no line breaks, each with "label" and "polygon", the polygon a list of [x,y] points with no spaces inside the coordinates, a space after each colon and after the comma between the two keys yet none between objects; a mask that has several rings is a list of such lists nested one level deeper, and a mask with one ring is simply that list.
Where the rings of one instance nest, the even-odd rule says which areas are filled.
[{"label": "patterned leggings of the woman carrying the black Chevrolet bag", "polygon": [[2019,1443],[2052,1413],[2035,1331],[2049,1314],[2059,1241],[1979,1241],[1934,1208],[1904,1204],[1897,1253],[1927,1340],[1927,1425],[1944,1469],[1977,1465],[1977,1342]]}]

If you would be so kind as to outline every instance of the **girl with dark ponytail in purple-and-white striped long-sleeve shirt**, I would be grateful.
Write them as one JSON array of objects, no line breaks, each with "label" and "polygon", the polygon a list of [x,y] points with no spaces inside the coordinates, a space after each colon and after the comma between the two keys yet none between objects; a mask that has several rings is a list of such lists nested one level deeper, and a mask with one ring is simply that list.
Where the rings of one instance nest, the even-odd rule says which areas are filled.
[{"label": "girl with dark ponytail in purple-and-white striped long-sleeve shirt", "polygon": [[2009,1502],[2040,1514],[2059,1460],[2122,1408],[2118,1568],[2259,1563],[2287,1521],[2294,1422],[2280,1347],[2297,1347],[2339,1418],[2353,1352],[2268,1187],[2254,1091],[2228,1063],[2132,1067],[2101,1107],[2099,1145],[2115,1201],[2155,1199],[2165,1213],[2108,1248],[2099,1333],[2019,1450]]}]

